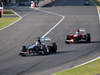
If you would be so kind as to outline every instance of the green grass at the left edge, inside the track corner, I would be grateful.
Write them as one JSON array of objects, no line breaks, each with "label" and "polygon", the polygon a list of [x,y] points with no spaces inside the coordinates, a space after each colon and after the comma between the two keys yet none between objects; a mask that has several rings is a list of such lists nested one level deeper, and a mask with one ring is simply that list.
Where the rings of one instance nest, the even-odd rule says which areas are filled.
[{"label": "green grass at the left edge, inside the track corner", "polygon": [[[10,11],[12,12],[12,11]],[[12,12],[13,13],[13,12]],[[3,17],[6,16],[6,17]],[[13,23],[14,21],[18,20],[19,17],[15,14],[3,14],[3,16],[0,18],[0,29],[8,26],[9,24]]]}]

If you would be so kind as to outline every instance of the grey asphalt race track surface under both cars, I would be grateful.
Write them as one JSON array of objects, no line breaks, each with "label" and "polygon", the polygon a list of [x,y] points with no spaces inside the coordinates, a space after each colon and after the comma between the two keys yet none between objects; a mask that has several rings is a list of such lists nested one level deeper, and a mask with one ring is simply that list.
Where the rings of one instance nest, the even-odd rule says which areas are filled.
[{"label": "grey asphalt race track surface under both cars", "polygon": [[[0,75],[50,75],[100,55],[100,24],[95,6],[84,6],[84,0],[57,0],[40,10],[16,9],[23,16],[18,23],[0,31]],[[48,7],[47,7],[48,6]],[[65,19],[47,36],[57,42],[58,53],[47,56],[21,57],[21,46],[44,35],[62,17]],[[25,12],[27,11],[27,12]],[[65,35],[78,28],[91,33],[92,43],[65,44]]]}]

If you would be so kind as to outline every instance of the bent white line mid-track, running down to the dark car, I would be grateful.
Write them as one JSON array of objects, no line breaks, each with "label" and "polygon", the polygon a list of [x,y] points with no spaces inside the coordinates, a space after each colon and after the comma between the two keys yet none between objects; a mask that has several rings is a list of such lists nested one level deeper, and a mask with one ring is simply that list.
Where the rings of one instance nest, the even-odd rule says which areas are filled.
[{"label": "bent white line mid-track, running down to the dark car", "polygon": [[39,10],[39,11],[44,12],[44,13],[47,13],[47,14],[52,14],[52,15],[56,15],[56,16],[62,17],[61,20],[58,21],[51,29],[49,29],[49,31],[47,31],[41,38],[46,37],[53,29],[55,29],[65,19],[64,15],[61,15],[61,14],[58,14],[58,13],[55,13],[55,12],[40,10],[39,8],[34,8],[34,9],[35,10]]}]

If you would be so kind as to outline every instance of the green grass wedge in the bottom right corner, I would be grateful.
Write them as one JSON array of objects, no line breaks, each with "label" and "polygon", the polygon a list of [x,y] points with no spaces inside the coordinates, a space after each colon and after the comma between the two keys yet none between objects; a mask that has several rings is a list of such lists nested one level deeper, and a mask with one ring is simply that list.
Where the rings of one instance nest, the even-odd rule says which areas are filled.
[{"label": "green grass wedge in the bottom right corner", "polygon": [[100,75],[100,59],[78,68],[58,72],[53,75]]}]

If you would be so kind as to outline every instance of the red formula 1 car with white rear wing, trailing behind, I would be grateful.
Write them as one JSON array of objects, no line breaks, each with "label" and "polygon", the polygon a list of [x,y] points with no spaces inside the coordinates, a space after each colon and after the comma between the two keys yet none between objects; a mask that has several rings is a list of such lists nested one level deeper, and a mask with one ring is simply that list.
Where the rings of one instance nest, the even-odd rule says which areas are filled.
[{"label": "red formula 1 car with white rear wing, trailing behind", "polygon": [[89,43],[91,42],[90,33],[86,33],[85,29],[78,29],[75,34],[69,34],[65,38],[65,43]]}]

